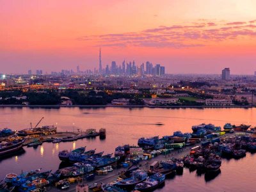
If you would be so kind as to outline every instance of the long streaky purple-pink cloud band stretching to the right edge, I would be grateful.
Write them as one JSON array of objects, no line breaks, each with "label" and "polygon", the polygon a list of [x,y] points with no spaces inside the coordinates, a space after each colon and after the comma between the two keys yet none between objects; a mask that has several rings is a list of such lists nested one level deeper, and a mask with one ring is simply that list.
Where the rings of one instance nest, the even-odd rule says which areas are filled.
[{"label": "long streaky purple-pink cloud band stretching to the right edge", "polygon": [[159,26],[130,33],[109,33],[78,37],[77,40],[91,42],[102,47],[202,47],[211,42],[236,40],[240,36],[255,37],[253,22],[230,22],[205,20],[205,23]]}]

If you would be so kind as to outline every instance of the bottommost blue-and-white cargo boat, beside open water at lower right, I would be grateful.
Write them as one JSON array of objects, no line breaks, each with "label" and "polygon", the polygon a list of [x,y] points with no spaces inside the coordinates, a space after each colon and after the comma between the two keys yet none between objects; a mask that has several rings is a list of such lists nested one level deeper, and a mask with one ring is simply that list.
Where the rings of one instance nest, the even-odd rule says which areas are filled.
[{"label": "bottommost blue-and-white cargo boat, beside open water at lower right", "polygon": [[138,191],[154,191],[154,189],[158,188],[161,186],[161,184],[164,183],[165,180],[165,175],[162,173],[156,173],[152,176],[150,176],[147,180],[136,184],[135,190]]}]

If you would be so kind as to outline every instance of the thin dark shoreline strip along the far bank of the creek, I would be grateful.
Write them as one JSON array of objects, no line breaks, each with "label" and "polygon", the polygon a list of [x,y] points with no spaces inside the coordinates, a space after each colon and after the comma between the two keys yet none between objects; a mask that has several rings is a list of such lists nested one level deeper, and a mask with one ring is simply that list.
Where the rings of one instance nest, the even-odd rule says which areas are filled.
[{"label": "thin dark shoreline strip along the far bank of the creek", "polygon": [[147,105],[0,105],[0,108],[255,108],[256,106],[147,106]]}]

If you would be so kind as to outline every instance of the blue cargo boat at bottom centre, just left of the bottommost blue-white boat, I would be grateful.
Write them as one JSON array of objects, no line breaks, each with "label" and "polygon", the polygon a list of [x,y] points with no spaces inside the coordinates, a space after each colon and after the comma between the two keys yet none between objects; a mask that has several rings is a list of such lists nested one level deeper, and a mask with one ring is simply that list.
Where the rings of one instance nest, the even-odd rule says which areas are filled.
[{"label": "blue cargo boat at bottom centre, just left of the bottommost blue-white boat", "polygon": [[148,174],[146,172],[141,171],[141,170],[136,170],[136,171],[132,172],[132,177],[118,181],[116,183],[116,186],[118,186],[120,188],[132,189],[132,188],[134,188],[134,186],[136,186],[136,184],[146,180],[147,177],[148,177]]}]

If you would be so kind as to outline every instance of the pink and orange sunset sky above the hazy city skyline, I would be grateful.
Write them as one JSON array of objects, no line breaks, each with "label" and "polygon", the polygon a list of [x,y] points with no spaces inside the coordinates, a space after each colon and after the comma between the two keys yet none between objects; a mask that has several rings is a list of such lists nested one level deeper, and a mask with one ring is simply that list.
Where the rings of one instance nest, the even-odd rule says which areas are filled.
[{"label": "pink and orange sunset sky above the hazy city skyline", "polygon": [[151,61],[168,74],[256,71],[256,1],[0,0],[0,73]]}]

